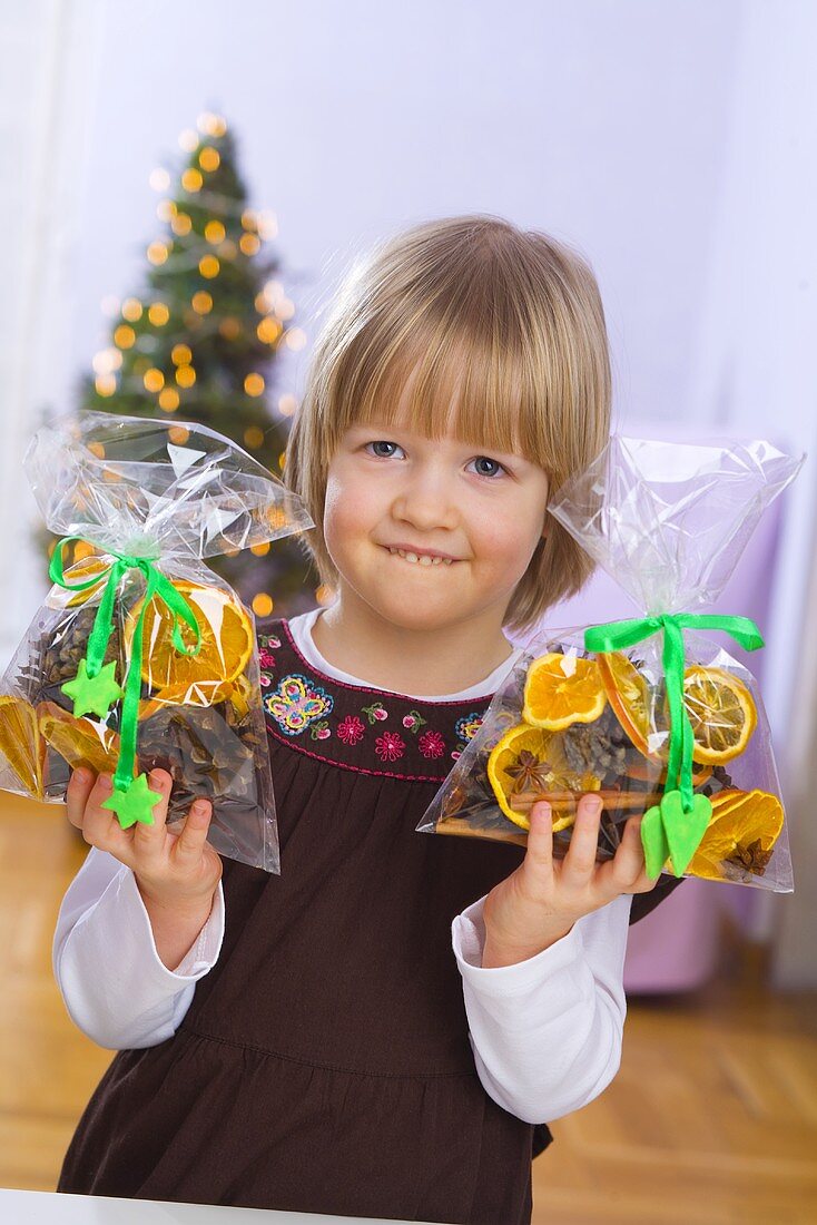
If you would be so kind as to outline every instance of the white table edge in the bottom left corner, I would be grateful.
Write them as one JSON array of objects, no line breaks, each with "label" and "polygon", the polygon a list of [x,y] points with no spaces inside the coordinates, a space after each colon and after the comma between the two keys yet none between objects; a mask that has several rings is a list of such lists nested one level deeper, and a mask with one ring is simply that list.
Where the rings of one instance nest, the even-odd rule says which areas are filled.
[{"label": "white table edge in the bottom left corner", "polygon": [[[157,1199],[110,1199],[107,1196],[64,1196],[51,1191],[9,1191],[0,1187],[4,1225],[401,1225],[366,1216],[322,1216],[279,1213],[266,1208],[223,1208],[218,1204],[170,1204]],[[407,1221],[403,1225],[408,1225]],[[418,1225],[418,1223],[414,1223]],[[434,1221],[420,1223],[434,1225]]]}]

